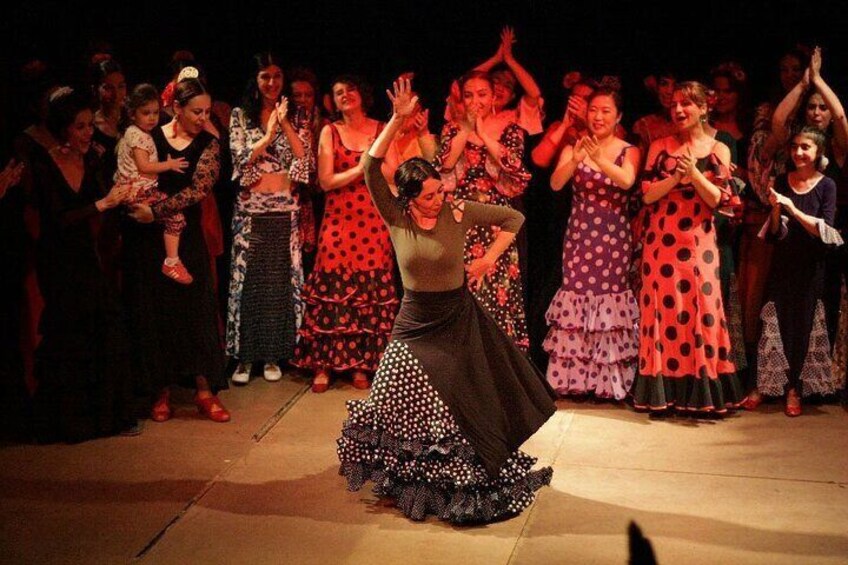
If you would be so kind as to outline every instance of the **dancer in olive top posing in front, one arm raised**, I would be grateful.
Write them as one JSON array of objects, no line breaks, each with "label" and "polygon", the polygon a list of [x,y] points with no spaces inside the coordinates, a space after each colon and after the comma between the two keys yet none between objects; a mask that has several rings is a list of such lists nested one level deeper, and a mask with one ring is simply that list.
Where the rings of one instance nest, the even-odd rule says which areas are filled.
[{"label": "dancer in olive top posing in front, one arm raised", "polygon": [[[374,482],[413,520],[453,523],[509,518],[551,479],[518,451],[554,413],[553,391],[480,307],[465,285],[479,284],[523,222],[511,208],[445,205],[438,171],[413,158],[395,174],[393,196],[380,173],[403,119],[415,108],[409,81],[388,92],[393,114],[365,157],[365,180],[386,222],[405,294],[370,396],[348,402],[338,440],[348,489]],[[474,225],[498,226],[486,253],[466,268]]]}]

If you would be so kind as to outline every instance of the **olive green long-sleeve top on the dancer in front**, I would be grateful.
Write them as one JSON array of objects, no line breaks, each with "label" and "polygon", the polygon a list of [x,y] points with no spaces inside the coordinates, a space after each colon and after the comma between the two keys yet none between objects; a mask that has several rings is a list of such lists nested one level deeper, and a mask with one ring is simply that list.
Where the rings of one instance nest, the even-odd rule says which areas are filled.
[{"label": "olive green long-sleeve top on the dancer in front", "polygon": [[[512,208],[457,201],[446,202],[436,225],[423,229],[397,205],[380,171],[383,160],[367,154],[363,159],[365,184],[389,228],[403,286],[410,290],[438,292],[461,287],[465,284],[465,233],[479,225],[499,226],[505,232],[518,233],[524,223],[524,215]],[[456,208],[462,210],[461,221],[454,215]]]}]

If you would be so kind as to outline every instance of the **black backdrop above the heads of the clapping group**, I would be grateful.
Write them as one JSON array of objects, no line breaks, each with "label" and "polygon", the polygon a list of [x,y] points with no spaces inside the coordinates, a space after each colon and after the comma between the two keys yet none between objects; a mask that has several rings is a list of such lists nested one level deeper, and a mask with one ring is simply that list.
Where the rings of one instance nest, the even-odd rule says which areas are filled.
[{"label": "black backdrop above the heads of the clapping group", "polygon": [[[377,92],[404,70],[417,74],[425,104],[441,114],[450,80],[488,57],[502,25],[515,27],[516,56],[536,77],[549,117],[562,107],[561,78],[580,69],[622,77],[626,122],[648,108],[642,77],[660,67],[681,78],[706,78],[716,63],[735,59],[747,69],[754,99],[777,82],[777,59],[796,42],[825,48],[825,78],[842,88],[848,10],[836,1],[636,2],[608,0],[346,2],[193,1],[111,4],[32,2],[12,8],[2,34],[4,131],[17,129],[18,68],[39,56],[65,73],[82,76],[92,40],[112,44],[128,82],[160,87],[175,49],[190,49],[205,67],[216,98],[237,103],[247,60],[272,49],[291,65],[312,67],[324,88],[341,72],[358,72]],[[374,115],[387,110],[377,96]],[[438,120],[433,120],[437,127]]]}]

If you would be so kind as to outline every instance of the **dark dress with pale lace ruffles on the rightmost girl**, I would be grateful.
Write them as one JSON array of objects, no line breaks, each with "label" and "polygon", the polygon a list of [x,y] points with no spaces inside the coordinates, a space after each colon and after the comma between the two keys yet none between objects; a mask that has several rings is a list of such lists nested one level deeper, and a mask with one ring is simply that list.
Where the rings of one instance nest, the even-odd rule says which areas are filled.
[{"label": "dark dress with pale lace ruffles on the rightmost girl", "polygon": [[[789,197],[801,212],[821,218],[825,232],[836,212],[836,184],[829,177],[798,194],[787,176],[777,177],[774,189]],[[763,394],[782,396],[787,388],[800,394],[830,394],[835,382],[830,341],[825,323],[824,293],[827,248],[794,218],[788,219],[774,241],[766,303],[760,319],[762,334],[757,355],[757,388]]]}]

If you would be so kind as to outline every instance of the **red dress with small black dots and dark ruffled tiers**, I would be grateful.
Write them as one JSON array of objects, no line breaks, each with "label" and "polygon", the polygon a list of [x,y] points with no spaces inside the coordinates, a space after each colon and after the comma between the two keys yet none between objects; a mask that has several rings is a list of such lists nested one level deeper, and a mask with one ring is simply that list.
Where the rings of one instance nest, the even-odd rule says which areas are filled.
[{"label": "red dress with small black dots and dark ruffled tiers", "polygon": [[[333,170],[355,167],[363,152],[346,148],[336,126],[329,127]],[[311,370],[376,370],[398,307],[393,268],[389,232],[364,178],[327,192],[292,363]]]}]

